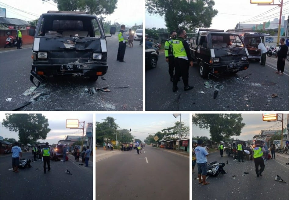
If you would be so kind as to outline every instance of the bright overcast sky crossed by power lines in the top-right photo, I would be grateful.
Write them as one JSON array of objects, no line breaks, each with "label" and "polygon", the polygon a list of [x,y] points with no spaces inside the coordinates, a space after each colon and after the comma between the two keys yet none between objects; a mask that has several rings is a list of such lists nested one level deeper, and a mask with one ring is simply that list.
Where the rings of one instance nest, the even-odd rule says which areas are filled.
[{"label": "bright overcast sky crossed by power lines in the top-right photo", "polygon": [[[258,16],[270,9],[272,12],[263,14],[264,19],[253,20],[247,22],[248,24],[263,24],[264,21],[273,21],[274,18],[279,19],[280,7],[278,6],[257,6],[257,4],[251,4],[250,0],[214,0],[214,9],[219,13],[212,19],[212,29],[228,30],[234,29],[239,22],[249,20],[255,16]],[[279,3],[275,0],[275,4]],[[282,15],[285,15],[285,20],[288,16],[289,1],[284,0]],[[164,22],[164,16],[150,15],[146,11],[146,28],[166,28]],[[197,27],[202,28],[202,27]]]}]

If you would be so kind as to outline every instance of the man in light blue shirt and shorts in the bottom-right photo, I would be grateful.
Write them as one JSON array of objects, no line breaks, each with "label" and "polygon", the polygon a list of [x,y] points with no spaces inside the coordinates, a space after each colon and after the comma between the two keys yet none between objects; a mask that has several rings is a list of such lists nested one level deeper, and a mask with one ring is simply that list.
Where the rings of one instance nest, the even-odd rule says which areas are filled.
[{"label": "man in light blue shirt and shorts in the bottom-right photo", "polygon": [[[203,140],[198,139],[198,146],[195,148],[195,154],[196,154],[197,165],[198,165],[199,183],[202,183],[202,185],[207,185],[210,183],[206,181],[206,176],[208,173],[207,156],[209,155],[209,153],[206,151],[204,147],[202,147],[202,144],[203,144]],[[203,178],[203,181],[201,181],[201,178]]]}]

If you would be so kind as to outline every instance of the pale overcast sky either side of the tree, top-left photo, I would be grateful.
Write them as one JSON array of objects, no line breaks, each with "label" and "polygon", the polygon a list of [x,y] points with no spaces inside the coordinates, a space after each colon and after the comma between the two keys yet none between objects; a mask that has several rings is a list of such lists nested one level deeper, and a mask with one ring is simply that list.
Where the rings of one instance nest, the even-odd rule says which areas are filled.
[{"label": "pale overcast sky either side of the tree, top-left photo", "polygon": [[[114,10],[114,13],[104,17],[112,24],[115,20],[115,22],[126,26],[140,25],[143,23],[144,7],[144,1],[118,0],[117,9]],[[48,2],[42,0],[0,0],[0,8],[6,8],[6,17],[29,21],[36,20],[42,13],[47,13],[48,10],[57,10],[57,5],[52,0]]]}]

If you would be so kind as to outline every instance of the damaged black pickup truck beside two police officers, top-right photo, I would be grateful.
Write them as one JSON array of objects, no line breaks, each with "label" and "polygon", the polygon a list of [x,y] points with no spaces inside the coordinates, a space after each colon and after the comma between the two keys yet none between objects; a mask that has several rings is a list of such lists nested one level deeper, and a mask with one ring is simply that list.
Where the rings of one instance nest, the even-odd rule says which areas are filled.
[{"label": "damaged black pickup truck beside two police officers, top-right photo", "polygon": [[[233,44],[236,39],[241,43]],[[200,28],[197,37],[189,38],[190,51],[197,62],[200,76],[237,73],[248,69],[248,51],[236,33]]]}]

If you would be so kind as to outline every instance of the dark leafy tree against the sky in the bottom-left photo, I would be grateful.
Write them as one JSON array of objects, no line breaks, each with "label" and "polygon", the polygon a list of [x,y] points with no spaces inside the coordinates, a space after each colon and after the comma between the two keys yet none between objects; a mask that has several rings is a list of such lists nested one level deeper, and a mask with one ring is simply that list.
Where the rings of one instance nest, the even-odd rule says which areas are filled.
[{"label": "dark leafy tree against the sky in the bottom-left photo", "polygon": [[9,128],[9,131],[18,131],[19,142],[27,145],[31,141],[46,139],[48,119],[42,114],[5,114],[2,126]]}]

